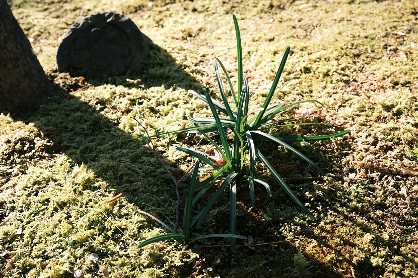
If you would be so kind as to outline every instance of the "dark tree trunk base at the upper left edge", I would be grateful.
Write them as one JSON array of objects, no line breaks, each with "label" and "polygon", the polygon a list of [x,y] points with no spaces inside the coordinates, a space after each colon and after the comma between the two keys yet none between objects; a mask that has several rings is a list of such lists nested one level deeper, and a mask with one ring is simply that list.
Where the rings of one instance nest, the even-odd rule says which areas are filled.
[{"label": "dark tree trunk base at the upper left edge", "polygon": [[0,112],[35,110],[52,89],[7,0],[0,0]]}]

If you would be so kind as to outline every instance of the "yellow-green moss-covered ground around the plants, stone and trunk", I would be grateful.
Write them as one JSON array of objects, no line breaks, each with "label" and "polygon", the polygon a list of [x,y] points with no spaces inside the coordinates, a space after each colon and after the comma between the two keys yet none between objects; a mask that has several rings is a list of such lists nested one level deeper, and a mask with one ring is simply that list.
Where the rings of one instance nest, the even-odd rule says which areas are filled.
[{"label": "yellow-green moss-covered ground around the plants, stone and trunk", "polygon": [[[404,170],[418,166],[414,0],[9,3],[56,84],[56,97],[30,115],[0,115],[1,277],[107,276],[100,267],[110,277],[189,277],[203,258],[210,277],[418,276],[418,176]],[[105,81],[57,73],[59,38],[72,23],[105,11],[127,15],[153,40],[148,61]],[[240,24],[254,107],[290,46],[281,83],[303,74],[275,102],[316,99],[327,108],[318,120],[351,130],[342,138],[294,144],[327,173],[320,181],[289,182],[317,220],[302,214],[260,167],[273,196],[256,188],[250,210],[248,190],[239,189],[237,232],[252,235],[255,244],[281,243],[235,253],[208,246],[229,243],[222,238],[138,249],[138,242],[166,232],[138,210],[173,221],[176,197],[154,154],[130,136],[137,133],[132,118],[138,111],[153,132],[186,120],[191,106],[208,113],[187,90],[205,85],[216,96],[214,57],[236,81],[232,14]],[[170,168],[190,166],[191,159],[173,147],[187,143],[183,137],[153,141]],[[261,147],[284,177],[317,176],[282,147]],[[226,192],[193,235],[227,233],[228,202]]]}]

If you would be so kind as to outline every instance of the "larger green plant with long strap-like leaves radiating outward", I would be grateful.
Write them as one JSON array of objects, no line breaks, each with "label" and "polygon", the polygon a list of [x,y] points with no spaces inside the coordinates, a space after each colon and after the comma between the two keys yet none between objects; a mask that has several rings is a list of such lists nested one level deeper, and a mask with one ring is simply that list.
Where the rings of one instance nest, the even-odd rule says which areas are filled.
[{"label": "larger green plant with long strap-like leaves radiating outward", "polygon": [[[181,150],[185,153],[188,153],[201,162],[208,165],[208,167],[202,168],[205,170],[216,170],[216,172],[204,179],[203,181],[197,182],[193,184],[193,187],[190,186],[189,188],[189,195],[192,196],[191,193],[194,189],[199,189],[200,192],[194,197],[193,203],[196,203],[197,200],[207,191],[209,188],[213,187],[214,184],[222,180],[222,185],[216,191],[214,196],[211,200],[207,203],[207,205],[199,212],[199,214],[194,218],[191,222],[192,225],[196,225],[196,227],[200,227],[203,223],[204,219],[206,218],[208,212],[211,211],[212,207],[215,205],[219,197],[223,194],[223,192],[229,187],[230,189],[230,233],[235,234],[235,218],[236,218],[236,188],[239,184],[243,182],[248,182],[250,196],[251,196],[251,206],[254,206],[255,203],[255,193],[254,193],[254,183],[260,183],[264,186],[267,190],[268,195],[271,197],[271,189],[269,184],[265,181],[255,178],[255,165],[256,165],[256,157],[268,168],[270,173],[274,176],[277,182],[282,186],[285,192],[292,198],[292,200],[298,205],[298,207],[306,213],[311,219],[315,219],[313,214],[305,207],[305,205],[299,200],[299,198],[295,195],[295,193],[288,187],[286,182],[283,178],[274,170],[274,167],[267,161],[264,155],[260,152],[260,150],[256,147],[256,141],[272,141],[276,142],[287,149],[291,150],[301,158],[303,158],[306,162],[312,165],[315,169],[317,169],[321,174],[324,172],[316,165],[311,159],[307,156],[302,154],[300,151],[296,150],[289,144],[285,143],[285,141],[318,141],[329,139],[333,137],[342,136],[347,134],[349,131],[345,130],[338,133],[333,133],[330,135],[322,135],[322,136],[297,136],[297,137],[280,137],[280,136],[272,136],[266,133],[266,130],[269,130],[273,127],[277,127],[280,124],[283,127],[289,126],[301,126],[301,125],[331,125],[328,123],[292,123],[292,121],[299,120],[306,117],[312,117],[314,115],[308,116],[300,116],[300,117],[293,117],[293,118],[286,118],[281,120],[274,120],[276,117],[280,117],[286,112],[294,109],[295,107],[299,106],[303,103],[317,103],[322,105],[316,100],[305,100],[305,101],[298,101],[289,104],[280,104],[270,106],[269,104],[271,100],[277,96],[277,94],[282,90],[283,86],[275,92],[278,81],[280,76],[283,72],[285,67],[286,59],[290,52],[290,47],[287,47],[283,59],[278,67],[276,75],[274,77],[273,84],[267,94],[266,99],[262,107],[255,109],[251,112],[248,111],[249,107],[249,86],[248,80],[246,76],[243,74],[243,62],[242,62],[242,46],[241,46],[241,37],[240,37],[240,30],[238,26],[238,21],[235,16],[233,16],[234,25],[235,25],[235,33],[237,38],[237,52],[238,52],[238,88],[235,91],[231,82],[231,78],[228,75],[225,66],[222,62],[216,58],[214,60],[214,67],[215,67],[215,74],[218,81],[219,89],[221,92],[221,97],[223,103],[216,101],[210,97],[209,91],[206,87],[202,87],[203,95],[199,94],[196,91],[189,90],[189,92],[197,97],[198,99],[205,102],[211,109],[213,117],[196,117],[193,118],[190,116],[191,121],[176,123],[176,124],[192,124],[192,126],[161,133],[161,129],[157,130],[157,137],[164,137],[168,135],[179,134],[183,132],[198,132],[202,134],[208,141],[210,141],[213,146],[221,153],[222,155],[222,164],[220,165],[217,163],[219,158],[212,156],[207,153],[203,153],[200,151],[192,150],[189,148],[184,147],[177,147],[178,150]],[[231,109],[231,105],[228,102],[226,91],[223,87],[223,83],[220,77],[218,62],[222,67],[223,72],[226,75],[228,80],[228,84],[231,90],[232,98],[233,98],[233,107],[235,110]],[[289,80],[290,81],[290,80]],[[288,82],[289,82],[288,81]],[[286,83],[284,84],[284,86]],[[275,92],[275,93],[274,93]],[[220,118],[218,113],[223,113],[229,117],[229,119]],[[290,122],[290,123],[287,123]],[[165,126],[166,127],[166,126]],[[217,144],[209,135],[208,133],[217,132],[221,138],[221,145]],[[232,133],[234,137],[234,141],[232,146],[228,142],[227,133]],[[244,158],[245,153],[248,151],[249,153],[249,161],[250,161],[250,169],[249,173],[245,171],[244,166]],[[225,165],[223,165],[225,164]],[[183,192],[185,193],[185,192]],[[168,235],[167,235],[168,236]],[[173,235],[172,235],[173,236]],[[180,234],[176,235],[178,237]],[[186,237],[187,238],[187,237]],[[231,238],[231,246],[232,249],[235,250],[236,243],[235,237]]]}]

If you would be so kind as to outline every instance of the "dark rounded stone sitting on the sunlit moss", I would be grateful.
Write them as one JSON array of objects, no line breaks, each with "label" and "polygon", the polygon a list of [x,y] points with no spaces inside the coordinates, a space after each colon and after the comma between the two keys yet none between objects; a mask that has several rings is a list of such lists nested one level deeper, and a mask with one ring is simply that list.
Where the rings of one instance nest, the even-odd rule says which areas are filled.
[{"label": "dark rounded stone sitting on the sunlit moss", "polygon": [[127,17],[100,13],[74,23],[56,54],[58,71],[107,78],[135,68],[151,40]]}]

